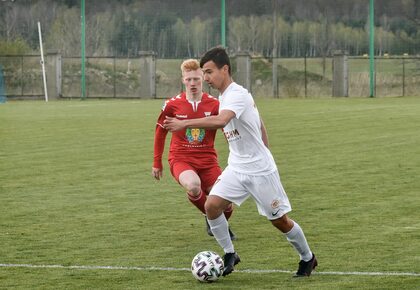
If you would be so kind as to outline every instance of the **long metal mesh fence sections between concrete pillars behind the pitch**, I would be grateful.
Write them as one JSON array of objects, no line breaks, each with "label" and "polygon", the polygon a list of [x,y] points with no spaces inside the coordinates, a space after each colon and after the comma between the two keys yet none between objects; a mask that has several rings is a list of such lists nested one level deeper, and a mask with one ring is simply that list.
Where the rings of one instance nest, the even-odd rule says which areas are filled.
[{"label": "long metal mesh fence sections between concrete pillars behind the pitch", "polygon": [[[5,95],[10,98],[43,98],[40,57],[0,56]],[[273,62],[277,81],[273,80]],[[182,59],[156,59],[156,95],[167,98],[182,90]],[[86,91],[88,98],[139,98],[144,89],[139,81],[139,58],[87,57]],[[236,78],[235,57],[232,57]],[[419,96],[419,57],[378,57],[375,59],[375,96]],[[61,98],[80,98],[79,57],[63,57]],[[332,58],[251,58],[250,90],[254,97],[330,97],[332,96]],[[369,96],[369,61],[348,58],[349,97]],[[205,85],[205,90],[217,94]]]}]

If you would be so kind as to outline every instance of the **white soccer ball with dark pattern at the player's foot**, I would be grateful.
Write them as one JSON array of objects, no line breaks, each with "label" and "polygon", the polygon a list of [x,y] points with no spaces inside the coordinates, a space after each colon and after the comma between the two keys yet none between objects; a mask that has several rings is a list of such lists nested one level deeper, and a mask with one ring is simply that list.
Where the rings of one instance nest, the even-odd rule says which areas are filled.
[{"label": "white soccer ball with dark pattern at the player's foot", "polygon": [[217,281],[223,274],[223,259],[215,252],[203,251],[191,262],[191,272],[200,282]]}]

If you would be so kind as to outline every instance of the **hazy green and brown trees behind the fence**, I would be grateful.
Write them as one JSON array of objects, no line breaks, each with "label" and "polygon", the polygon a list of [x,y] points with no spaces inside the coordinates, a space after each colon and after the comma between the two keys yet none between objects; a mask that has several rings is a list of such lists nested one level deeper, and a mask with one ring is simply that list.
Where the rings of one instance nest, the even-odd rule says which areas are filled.
[{"label": "hazy green and brown trees behind the fence", "polygon": [[[264,56],[316,57],[335,49],[365,54],[368,4],[366,0],[227,0],[227,46],[233,52],[249,50]],[[37,50],[41,20],[47,49],[58,49],[63,56],[80,55],[80,1],[19,0],[0,5],[0,43],[19,39]],[[86,24],[90,56],[130,57],[154,51],[160,58],[198,57],[220,44],[220,1],[88,0]],[[376,1],[375,54],[418,54],[419,24],[420,0]],[[15,52],[1,45],[0,49],[0,54]]]}]

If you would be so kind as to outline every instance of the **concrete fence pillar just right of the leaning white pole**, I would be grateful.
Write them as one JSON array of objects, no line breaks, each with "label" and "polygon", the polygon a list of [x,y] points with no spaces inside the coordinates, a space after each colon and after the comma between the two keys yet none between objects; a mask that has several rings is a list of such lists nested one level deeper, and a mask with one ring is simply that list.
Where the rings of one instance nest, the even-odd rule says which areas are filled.
[{"label": "concrete fence pillar just right of the leaning white pole", "polygon": [[61,97],[61,54],[57,50],[48,50],[45,57],[45,73],[50,100]]}]

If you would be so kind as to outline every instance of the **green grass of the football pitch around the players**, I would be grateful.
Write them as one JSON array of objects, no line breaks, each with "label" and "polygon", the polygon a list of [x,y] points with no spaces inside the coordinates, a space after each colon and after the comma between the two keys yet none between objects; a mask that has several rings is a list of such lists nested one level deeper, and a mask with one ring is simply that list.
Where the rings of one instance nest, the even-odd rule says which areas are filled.
[{"label": "green grass of the football pitch around the players", "polygon": [[[419,276],[326,272],[420,273],[420,99],[257,104],[319,274],[236,272],[203,285],[188,271],[150,270],[222,252],[168,166],[162,181],[151,177],[162,101],[21,101],[0,105],[0,264],[66,268],[0,267],[0,288],[418,288]],[[224,167],[221,134],[216,143]],[[252,200],[231,225],[238,270],[296,270],[298,256]]]}]

